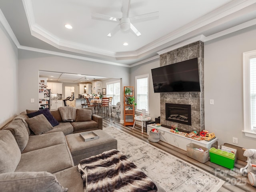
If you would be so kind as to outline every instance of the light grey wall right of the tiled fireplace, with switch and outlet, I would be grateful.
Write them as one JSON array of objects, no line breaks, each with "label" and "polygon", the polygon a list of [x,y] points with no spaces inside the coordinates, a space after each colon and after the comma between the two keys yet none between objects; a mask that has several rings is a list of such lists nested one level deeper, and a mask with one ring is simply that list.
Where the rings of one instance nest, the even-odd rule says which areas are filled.
[{"label": "light grey wall right of the tiled fireplace, with switch and outlet", "polygon": [[[219,138],[218,144],[232,143],[255,148],[255,138],[244,136],[243,52],[256,50],[256,26],[204,44],[205,128]],[[214,105],[210,105],[210,99]],[[236,144],[234,144],[236,145]]]}]

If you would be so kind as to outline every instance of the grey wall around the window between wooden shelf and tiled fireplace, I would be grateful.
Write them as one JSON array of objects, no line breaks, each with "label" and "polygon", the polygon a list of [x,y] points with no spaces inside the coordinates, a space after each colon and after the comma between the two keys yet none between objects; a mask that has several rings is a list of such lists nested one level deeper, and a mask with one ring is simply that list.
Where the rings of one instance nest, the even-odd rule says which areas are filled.
[{"label": "grey wall around the window between wooden shelf and tiled fireplace", "polygon": [[[160,93],[154,93],[151,69],[160,67],[159,58],[131,68],[130,86],[136,86],[135,76],[149,74],[149,116],[152,120],[160,116]],[[135,93],[136,94],[136,93]],[[136,98],[135,98],[136,99]]]}]

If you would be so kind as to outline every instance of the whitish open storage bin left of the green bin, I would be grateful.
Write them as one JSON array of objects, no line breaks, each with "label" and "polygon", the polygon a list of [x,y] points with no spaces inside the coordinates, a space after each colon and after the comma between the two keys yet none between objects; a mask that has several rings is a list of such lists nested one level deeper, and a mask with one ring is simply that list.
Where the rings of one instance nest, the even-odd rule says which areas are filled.
[{"label": "whitish open storage bin left of the green bin", "polygon": [[[196,150],[200,148],[204,150],[204,152]],[[209,150],[208,148],[199,146],[197,144],[189,143],[187,144],[187,156],[201,163],[205,163],[209,160]]]}]

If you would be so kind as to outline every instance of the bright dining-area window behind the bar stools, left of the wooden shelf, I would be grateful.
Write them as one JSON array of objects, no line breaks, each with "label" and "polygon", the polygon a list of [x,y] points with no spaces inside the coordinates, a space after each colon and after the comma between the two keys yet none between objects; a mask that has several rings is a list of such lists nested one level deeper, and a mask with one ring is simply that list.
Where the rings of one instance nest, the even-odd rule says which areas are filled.
[{"label": "bright dining-area window behind the bar stools, left of the wooden shelf", "polygon": [[112,105],[120,102],[120,81],[106,83],[106,97],[112,97]]}]

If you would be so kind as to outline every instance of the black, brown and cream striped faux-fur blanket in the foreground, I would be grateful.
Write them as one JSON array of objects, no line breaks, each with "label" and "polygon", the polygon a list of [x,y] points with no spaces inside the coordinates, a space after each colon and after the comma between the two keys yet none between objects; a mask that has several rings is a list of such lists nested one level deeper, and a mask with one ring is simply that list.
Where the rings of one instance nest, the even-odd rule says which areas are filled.
[{"label": "black, brown and cream striped faux-fur blanket in the foreground", "polygon": [[154,182],[118,150],[80,161],[84,192],[156,192]]}]

